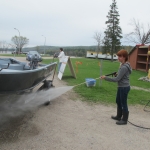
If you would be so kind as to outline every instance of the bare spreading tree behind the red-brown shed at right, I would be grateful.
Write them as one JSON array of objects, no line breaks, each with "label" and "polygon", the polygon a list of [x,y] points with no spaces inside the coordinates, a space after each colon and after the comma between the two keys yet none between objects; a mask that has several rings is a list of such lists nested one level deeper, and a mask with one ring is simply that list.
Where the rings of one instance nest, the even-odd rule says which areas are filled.
[{"label": "bare spreading tree behind the red-brown shed at right", "polygon": [[132,19],[131,25],[134,27],[133,32],[130,32],[126,35],[126,39],[135,44],[148,44],[150,43],[150,27],[145,32],[143,24],[140,24],[139,21]]}]

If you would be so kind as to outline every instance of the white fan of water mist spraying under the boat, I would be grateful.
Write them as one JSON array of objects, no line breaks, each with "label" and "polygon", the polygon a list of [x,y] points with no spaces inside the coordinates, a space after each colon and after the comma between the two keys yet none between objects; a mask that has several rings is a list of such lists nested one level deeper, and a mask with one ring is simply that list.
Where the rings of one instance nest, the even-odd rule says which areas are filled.
[{"label": "white fan of water mist spraying under the boat", "polygon": [[72,88],[73,86],[50,88],[46,91],[43,90],[30,94],[1,97],[0,124],[14,117],[21,116],[27,111],[32,111],[40,105],[61,96]]}]

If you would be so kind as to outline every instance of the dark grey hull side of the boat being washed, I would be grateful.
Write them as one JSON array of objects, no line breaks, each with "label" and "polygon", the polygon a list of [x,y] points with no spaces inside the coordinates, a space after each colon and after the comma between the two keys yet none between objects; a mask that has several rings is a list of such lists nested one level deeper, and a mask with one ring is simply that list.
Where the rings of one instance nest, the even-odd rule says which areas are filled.
[{"label": "dark grey hull side of the boat being washed", "polygon": [[33,89],[54,74],[56,66],[57,63],[52,63],[34,70],[11,71],[4,69],[0,72],[0,93]]}]

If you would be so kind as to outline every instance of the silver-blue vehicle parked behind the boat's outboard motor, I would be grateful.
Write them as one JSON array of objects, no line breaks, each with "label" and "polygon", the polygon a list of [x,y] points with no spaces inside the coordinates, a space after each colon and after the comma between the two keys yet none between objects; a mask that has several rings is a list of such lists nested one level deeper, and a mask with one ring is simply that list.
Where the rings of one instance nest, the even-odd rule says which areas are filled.
[{"label": "silver-blue vehicle parked behind the boat's outboard motor", "polygon": [[38,62],[42,61],[42,57],[37,51],[29,51],[26,55],[26,60],[33,61],[33,59],[37,60]]}]

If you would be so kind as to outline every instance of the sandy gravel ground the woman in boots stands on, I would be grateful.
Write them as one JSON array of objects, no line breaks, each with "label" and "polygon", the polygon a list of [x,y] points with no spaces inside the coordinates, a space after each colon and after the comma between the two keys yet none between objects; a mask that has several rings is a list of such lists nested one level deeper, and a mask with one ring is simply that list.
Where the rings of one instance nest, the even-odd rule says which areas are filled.
[{"label": "sandy gravel ground the woman in boots stands on", "polygon": [[[54,80],[56,87],[63,81]],[[129,106],[129,120],[150,127],[150,112]],[[115,106],[82,102],[73,90],[0,126],[0,150],[149,150],[150,130],[110,119]]]}]

